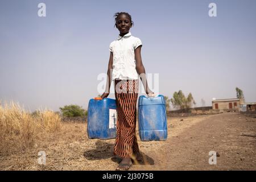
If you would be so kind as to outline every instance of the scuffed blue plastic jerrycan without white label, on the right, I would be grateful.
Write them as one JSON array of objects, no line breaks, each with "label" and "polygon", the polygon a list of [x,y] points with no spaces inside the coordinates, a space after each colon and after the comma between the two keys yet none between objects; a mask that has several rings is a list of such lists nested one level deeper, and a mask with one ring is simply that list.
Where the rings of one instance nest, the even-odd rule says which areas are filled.
[{"label": "scuffed blue plastic jerrycan without white label, on the right", "polygon": [[166,140],[167,118],[164,96],[139,96],[139,138],[142,141]]}]

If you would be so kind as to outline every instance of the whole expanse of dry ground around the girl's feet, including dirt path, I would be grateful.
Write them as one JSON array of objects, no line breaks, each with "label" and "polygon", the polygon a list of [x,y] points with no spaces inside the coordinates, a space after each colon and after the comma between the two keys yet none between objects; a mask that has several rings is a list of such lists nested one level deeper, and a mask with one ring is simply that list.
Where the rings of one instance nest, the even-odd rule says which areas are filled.
[{"label": "whole expanse of dry ground around the girl's feet, including dirt path", "polygon": [[[131,170],[255,170],[255,117],[224,113],[168,118],[166,141],[138,139],[144,163]],[[114,170],[113,146],[114,139],[88,139],[85,123],[63,123],[56,133],[38,134],[32,149],[1,151],[0,169]],[[38,164],[39,151],[46,152],[46,165]],[[220,154],[216,165],[208,163],[209,151]]]}]

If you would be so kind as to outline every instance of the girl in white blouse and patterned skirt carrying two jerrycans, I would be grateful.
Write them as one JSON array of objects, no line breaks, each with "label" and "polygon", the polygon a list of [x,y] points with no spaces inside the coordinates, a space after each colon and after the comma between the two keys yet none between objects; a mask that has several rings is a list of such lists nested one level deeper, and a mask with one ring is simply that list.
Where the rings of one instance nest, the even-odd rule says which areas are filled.
[{"label": "girl in white blouse and patterned skirt carrying two jerrycans", "polygon": [[101,97],[109,96],[110,84],[114,80],[117,104],[117,135],[114,155],[122,158],[117,170],[127,170],[131,167],[131,158],[142,160],[135,133],[139,77],[141,77],[146,93],[153,92],[148,88],[146,72],[142,64],[141,39],[132,36],[129,32],[133,26],[131,15],[121,12],[115,13],[114,17],[119,35],[110,43],[108,79],[106,90]]}]

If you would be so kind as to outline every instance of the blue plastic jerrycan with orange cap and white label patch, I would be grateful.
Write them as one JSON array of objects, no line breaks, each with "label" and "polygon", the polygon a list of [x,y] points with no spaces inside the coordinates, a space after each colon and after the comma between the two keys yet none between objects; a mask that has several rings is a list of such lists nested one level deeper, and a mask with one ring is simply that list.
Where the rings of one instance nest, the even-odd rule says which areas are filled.
[{"label": "blue plastic jerrycan with orange cap and white label patch", "polygon": [[117,107],[112,98],[90,99],[87,115],[89,139],[113,139],[116,135]]}]

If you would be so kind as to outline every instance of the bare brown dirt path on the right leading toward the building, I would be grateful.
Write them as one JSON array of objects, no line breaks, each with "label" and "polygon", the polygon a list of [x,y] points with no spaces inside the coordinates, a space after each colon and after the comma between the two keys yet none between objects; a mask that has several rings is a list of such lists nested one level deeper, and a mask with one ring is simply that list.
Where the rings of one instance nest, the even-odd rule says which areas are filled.
[{"label": "bare brown dirt path on the right leading toward the building", "polygon": [[[184,119],[185,121],[186,119]],[[193,119],[192,119],[193,120]],[[197,122],[195,122],[197,121]],[[170,121],[177,125],[177,121]],[[183,122],[183,121],[179,121]],[[256,118],[225,113],[194,119],[194,125],[177,132],[163,146],[144,154],[154,165],[134,166],[135,170],[255,170]],[[172,132],[174,130],[174,132]],[[209,164],[209,151],[216,151],[217,164]],[[152,152],[152,154],[151,154]],[[153,157],[154,156],[154,157]]]}]

